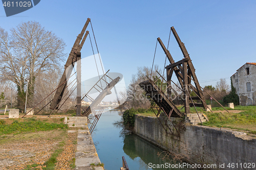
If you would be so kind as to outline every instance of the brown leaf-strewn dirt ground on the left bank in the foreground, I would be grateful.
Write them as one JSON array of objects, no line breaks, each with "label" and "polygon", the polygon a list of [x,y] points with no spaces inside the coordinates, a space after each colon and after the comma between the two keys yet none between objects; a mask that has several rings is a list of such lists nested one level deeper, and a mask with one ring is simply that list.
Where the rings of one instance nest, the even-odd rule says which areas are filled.
[{"label": "brown leaf-strewn dirt ground on the left bank in the foreground", "polygon": [[0,138],[0,169],[42,169],[56,149],[63,150],[57,157],[56,169],[74,167],[77,130],[40,131]]}]

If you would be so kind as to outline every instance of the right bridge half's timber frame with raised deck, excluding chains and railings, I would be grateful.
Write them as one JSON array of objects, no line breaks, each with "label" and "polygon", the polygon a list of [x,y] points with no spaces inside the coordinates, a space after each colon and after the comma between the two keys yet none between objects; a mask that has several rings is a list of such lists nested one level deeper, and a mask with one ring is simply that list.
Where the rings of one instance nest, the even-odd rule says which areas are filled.
[{"label": "right bridge half's timber frame with raised deck, excluding chains and railings", "polygon": [[[150,96],[150,98],[159,106],[159,108],[161,108],[166,113],[167,117],[182,117],[185,114],[190,113],[190,107],[196,108],[197,106],[206,110],[208,106],[205,102],[203,91],[199,85],[194,65],[189,57],[189,54],[187,53],[186,47],[184,43],[181,42],[174,27],[170,29],[179,44],[184,58],[178,62],[175,62],[172,55],[170,55],[170,52],[164,46],[162,40],[157,38],[166,55],[166,58],[168,58],[170,63],[165,67],[167,79],[165,80],[163,76],[161,76],[157,71],[159,78],[156,81],[148,78],[148,80],[141,82],[139,85],[146,92],[146,96]],[[172,81],[174,73],[179,81],[181,88]],[[164,80],[167,84],[165,90],[162,89],[162,85],[161,87],[157,87],[156,85],[156,82],[160,78],[162,78],[162,80]],[[191,80],[194,82],[195,86],[191,84]],[[178,92],[175,91],[175,89],[172,87],[172,84],[178,86],[181,89],[183,97],[181,97]],[[166,90],[167,92],[165,92]],[[190,92],[192,91],[195,92],[196,96],[190,96]],[[183,101],[185,113],[181,112],[183,107],[179,110],[173,103],[174,99],[171,98],[172,92],[176,94],[176,97],[179,96],[180,100]],[[195,101],[197,101],[197,103],[195,103]]]}]

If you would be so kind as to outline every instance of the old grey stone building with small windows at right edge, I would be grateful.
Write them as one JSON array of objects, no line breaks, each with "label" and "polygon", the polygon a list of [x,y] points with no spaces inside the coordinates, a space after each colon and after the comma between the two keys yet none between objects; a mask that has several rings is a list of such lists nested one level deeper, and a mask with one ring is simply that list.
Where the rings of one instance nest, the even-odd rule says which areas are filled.
[{"label": "old grey stone building with small windows at right edge", "polygon": [[245,63],[231,76],[231,81],[240,105],[256,105],[256,63]]}]

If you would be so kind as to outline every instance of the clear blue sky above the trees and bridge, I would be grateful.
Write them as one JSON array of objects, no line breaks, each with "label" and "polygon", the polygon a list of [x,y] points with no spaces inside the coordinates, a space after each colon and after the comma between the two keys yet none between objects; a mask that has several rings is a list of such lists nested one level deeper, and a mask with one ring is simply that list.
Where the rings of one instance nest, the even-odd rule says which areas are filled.
[{"label": "clear blue sky above the trees and bridge", "polygon": [[[256,1],[47,1],[25,12],[6,17],[0,7],[0,27],[9,30],[21,21],[35,20],[62,38],[66,53],[91,18],[105,70],[120,72],[126,86],[137,67],[152,66],[156,40],[167,46],[174,26],[196,68],[201,86],[216,85],[246,62],[256,62]],[[90,26],[90,25],[89,25]],[[88,27],[91,32],[91,29]],[[94,49],[95,50],[95,49]],[[182,59],[171,34],[169,51]],[[90,41],[83,56],[92,55]],[[164,67],[158,44],[155,64]],[[65,61],[66,62],[66,61]]]}]

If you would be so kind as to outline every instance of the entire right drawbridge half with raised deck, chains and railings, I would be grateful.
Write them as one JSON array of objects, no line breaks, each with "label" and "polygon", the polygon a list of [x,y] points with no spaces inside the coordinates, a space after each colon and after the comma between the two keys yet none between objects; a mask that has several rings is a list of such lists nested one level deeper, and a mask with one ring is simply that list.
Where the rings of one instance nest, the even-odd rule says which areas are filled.
[{"label": "entire right drawbridge half with raised deck, chains and railings", "polygon": [[[203,88],[199,84],[199,81],[197,79],[196,72],[195,72],[196,69],[194,68],[194,65],[189,57],[189,54],[186,50],[184,43],[180,40],[174,27],[170,28],[170,33],[171,32],[173,33],[176,41],[178,42],[180,50],[183,54],[183,59],[175,62],[172,55],[168,51],[168,46],[166,48],[162,40],[160,38],[157,38],[157,43],[161,45],[166,55],[165,62],[166,62],[166,59],[168,59],[169,61],[169,65],[164,64],[164,69],[166,70],[166,79],[164,78],[164,73],[163,75],[161,75],[158,71],[156,71],[158,75],[153,76],[153,79],[156,79],[156,80],[151,79],[153,65],[155,61],[155,55],[156,55],[156,51],[155,51],[151,75],[147,77],[148,80],[141,82],[139,84],[139,86],[145,91],[145,96],[150,97],[150,99],[154,101],[155,104],[157,105],[155,107],[152,107],[153,111],[154,109],[155,110],[157,109],[157,113],[154,111],[157,118],[160,120],[160,117],[162,117],[160,116],[161,112],[166,114],[167,119],[164,119],[165,125],[167,125],[166,123],[167,120],[172,122],[170,117],[183,117],[186,114],[189,114],[190,107],[195,108],[199,119],[200,119],[200,116],[197,110],[198,107],[201,108],[203,111],[206,111],[206,109],[211,111],[211,108],[209,108],[205,102]],[[169,42],[168,42],[168,45],[169,45]],[[157,44],[156,44],[156,49],[157,49]],[[178,79],[178,84],[176,84],[172,80],[173,75],[176,75]],[[160,84],[159,84],[159,79],[162,80]],[[179,89],[179,91],[177,91],[177,89]],[[192,93],[194,94],[193,96],[191,96]],[[173,98],[173,96],[175,96],[175,98]],[[212,97],[212,99],[214,98]],[[179,100],[183,104],[182,108],[178,109],[177,105],[174,103],[174,100]],[[219,103],[217,100],[215,101]],[[183,108],[184,108],[184,111],[181,111]],[[200,122],[202,124],[201,119],[200,119]],[[161,120],[160,120],[160,123],[162,124]],[[175,127],[174,124],[173,126]],[[167,133],[167,130],[169,129],[170,133],[174,134],[170,126],[167,126],[167,128],[163,126],[163,128],[165,129],[166,133]],[[175,129],[177,131],[176,127]],[[179,135],[179,132],[178,132],[178,135]]]}]

